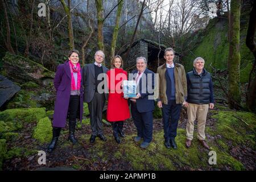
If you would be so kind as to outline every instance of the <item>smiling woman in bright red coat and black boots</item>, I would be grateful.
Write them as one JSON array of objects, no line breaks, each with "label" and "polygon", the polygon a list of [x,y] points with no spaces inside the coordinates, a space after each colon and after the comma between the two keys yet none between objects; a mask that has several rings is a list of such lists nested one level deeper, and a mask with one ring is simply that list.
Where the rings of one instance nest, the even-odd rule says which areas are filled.
[{"label": "smiling woman in bright red coat and black boots", "polygon": [[130,118],[128,102],[123,98],[122,81],[127,80],[127,72],[122,69],[123,60],[121,56],[115,56],[111,62],[111,67],[106,74],[108,75],[108,110],[107,119],[112,122],[113,135],[117,143],[121,143],[118,133],[123,134],[123,121]]}]

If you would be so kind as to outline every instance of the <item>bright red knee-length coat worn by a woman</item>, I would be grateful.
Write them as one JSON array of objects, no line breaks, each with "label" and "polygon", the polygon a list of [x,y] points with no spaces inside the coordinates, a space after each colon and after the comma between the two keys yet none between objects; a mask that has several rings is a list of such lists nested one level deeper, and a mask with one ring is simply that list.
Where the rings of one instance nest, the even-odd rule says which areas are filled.
[{"label": "bright red knee-length coat worn by a woman", "polygon": [[110,122],[124,121],[130,118],[128,102],[123,98],[121,89],[122,80],[127,80],[127,72],[123,71],[122,68],[114,68],[106,74],[108,75],[109,89],[107,120]]}]

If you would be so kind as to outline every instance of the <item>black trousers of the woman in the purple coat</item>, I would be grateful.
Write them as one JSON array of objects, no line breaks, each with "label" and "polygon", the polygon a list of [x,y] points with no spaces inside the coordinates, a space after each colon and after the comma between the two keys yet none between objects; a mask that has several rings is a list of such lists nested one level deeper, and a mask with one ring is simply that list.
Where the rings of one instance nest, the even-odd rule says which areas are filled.
[{"label": "black trousers of the woman in the purple coat", "polygon": [[79,114],[79,106],[80,97],[78,95],[70,96],[68,105],[69,121],[76,121],[77,115]]}]

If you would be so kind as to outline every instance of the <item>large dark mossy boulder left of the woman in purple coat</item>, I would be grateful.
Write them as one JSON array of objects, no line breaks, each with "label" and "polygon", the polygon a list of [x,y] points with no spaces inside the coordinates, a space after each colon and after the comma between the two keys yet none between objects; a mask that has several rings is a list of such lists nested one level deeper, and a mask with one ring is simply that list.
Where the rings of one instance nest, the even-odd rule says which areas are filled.
[{"label": "large dark mossy boulder left of the woman in purple coat", "polygon": [[6,52],[2,60],[2,75],[15,82],[24,84],[28,81],[32,81],[37,84],[44,84],[48,82],[45,80],[52,80],[55,76],[54,72],[49,71],[44,68],[43,65],[27,59],[26,57]]}]

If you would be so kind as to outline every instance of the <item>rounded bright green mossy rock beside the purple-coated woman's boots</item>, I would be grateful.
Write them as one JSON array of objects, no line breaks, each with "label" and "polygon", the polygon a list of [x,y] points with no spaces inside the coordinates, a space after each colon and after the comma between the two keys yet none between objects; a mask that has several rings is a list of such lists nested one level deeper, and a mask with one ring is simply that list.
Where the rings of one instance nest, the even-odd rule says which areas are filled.
[{"label": "rounded bright green mossy rock beside the purple-coated woman's boots", "polygon": [[41,143],[51,142],[52,139],[52,123],[48,117],[40,119],[36,125],[33,138],[39,140]]}]

